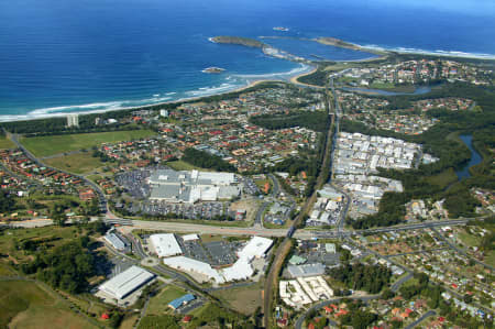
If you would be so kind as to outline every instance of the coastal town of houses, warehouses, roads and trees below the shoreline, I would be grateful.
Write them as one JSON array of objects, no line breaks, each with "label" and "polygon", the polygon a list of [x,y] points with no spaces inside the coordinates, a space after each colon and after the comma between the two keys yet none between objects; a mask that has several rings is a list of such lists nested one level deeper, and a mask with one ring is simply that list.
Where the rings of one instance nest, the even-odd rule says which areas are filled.
[{"label": "coastal town of houses, warehouses, roads and trees below the shoreline", "polygon": [[91,328],[493,326],[493,70],[350,65],[1,123],[0,270]]}]

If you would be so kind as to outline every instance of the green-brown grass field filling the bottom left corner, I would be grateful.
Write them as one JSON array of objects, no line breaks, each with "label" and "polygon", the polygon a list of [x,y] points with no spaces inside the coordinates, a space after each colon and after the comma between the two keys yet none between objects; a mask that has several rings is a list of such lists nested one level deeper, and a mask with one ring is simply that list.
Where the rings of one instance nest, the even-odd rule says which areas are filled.
[{"label": "green-brown grass field filling the bottom left corner", "polygon": [[37,284],[0,282],[1,328],[95,328]]}]

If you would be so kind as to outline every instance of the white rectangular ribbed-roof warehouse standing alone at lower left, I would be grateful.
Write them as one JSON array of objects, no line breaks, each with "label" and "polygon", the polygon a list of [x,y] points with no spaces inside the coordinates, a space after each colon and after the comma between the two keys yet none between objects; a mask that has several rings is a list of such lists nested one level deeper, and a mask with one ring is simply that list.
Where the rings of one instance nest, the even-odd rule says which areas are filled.
[{"label": "white rectangular ribbed-roof warehouse standing alone at lower left", "polygon": [[98,287],[111,298],[122,299],[155,277],[153,273],[139,266],[131,266]]}]

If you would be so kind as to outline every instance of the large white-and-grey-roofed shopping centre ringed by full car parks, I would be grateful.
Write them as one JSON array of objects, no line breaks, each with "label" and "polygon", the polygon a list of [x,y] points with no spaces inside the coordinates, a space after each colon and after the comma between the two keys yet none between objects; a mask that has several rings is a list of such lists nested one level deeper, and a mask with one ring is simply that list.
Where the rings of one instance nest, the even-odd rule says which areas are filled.
[{"label": "large white-and-grey-roofed shopping centre ringed by full car parks", "polygon": [[160,169],[153,173],[148,183],[152,186],[150,199],[167,202],[216,201],[241,194],[232,173]]}]

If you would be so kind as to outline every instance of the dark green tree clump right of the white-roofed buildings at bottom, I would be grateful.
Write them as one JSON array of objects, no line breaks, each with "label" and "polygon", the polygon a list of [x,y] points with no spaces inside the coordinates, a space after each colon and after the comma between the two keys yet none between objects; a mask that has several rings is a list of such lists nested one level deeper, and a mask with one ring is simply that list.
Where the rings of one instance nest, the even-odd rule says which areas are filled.
[{"label": "dark green tree clump right of the white-roofed buildings at bottom", "polygon": [[343,282],[349,288],[354,290],[366,290],[377,294],[387,286],[392,272],[383,265],[344,264],[339,267],[328,270],[328,274]]}]

